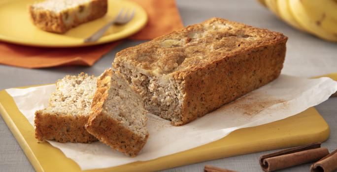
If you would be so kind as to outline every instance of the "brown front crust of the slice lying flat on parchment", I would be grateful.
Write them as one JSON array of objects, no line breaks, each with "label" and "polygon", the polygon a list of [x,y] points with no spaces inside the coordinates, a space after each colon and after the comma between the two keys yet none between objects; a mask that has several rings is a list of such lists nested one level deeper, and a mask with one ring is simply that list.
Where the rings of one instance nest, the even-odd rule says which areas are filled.
[{"label": "brown front crust of the slice lying flat on parchment", "polygon": [[38,141],[55,140],[60,143],[91,143],[97,139],[84,128],[89,116],[43,114],[35,112],[35,138]]}]

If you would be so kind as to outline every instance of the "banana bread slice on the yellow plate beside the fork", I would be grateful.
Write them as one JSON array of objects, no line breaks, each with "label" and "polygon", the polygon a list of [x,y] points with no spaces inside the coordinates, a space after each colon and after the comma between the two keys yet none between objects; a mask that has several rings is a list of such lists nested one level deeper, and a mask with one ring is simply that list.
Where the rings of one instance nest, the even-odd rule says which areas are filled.
[{"label": "banana bread slice on the yellow plate beside the fork", "polygon": [[101,18],[107,12],[107,0],[46,0],[29,7],[38,28],[64,33],[82,23]]}]

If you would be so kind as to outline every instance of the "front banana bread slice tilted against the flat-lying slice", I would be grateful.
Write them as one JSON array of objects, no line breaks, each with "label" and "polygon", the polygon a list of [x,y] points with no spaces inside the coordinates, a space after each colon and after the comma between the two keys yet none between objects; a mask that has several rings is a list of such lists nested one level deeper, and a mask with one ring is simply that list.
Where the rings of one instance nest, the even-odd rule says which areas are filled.
[{"label": "front banana bread slice tilted against the flat-lying slice", "polygon": [[127,156],[136,156],[147,141],[147,111],[141,97],[119,72],[107,69],[97,81],[87,131]]}]

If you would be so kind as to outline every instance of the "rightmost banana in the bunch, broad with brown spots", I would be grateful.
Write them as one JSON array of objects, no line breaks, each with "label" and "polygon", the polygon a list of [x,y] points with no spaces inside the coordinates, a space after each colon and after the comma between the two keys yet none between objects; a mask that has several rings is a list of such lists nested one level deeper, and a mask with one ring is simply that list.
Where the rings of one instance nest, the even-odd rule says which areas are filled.
[{"label": "rightmost banana in the bunch, broad with brown spots", "polygon": [[337,34],[337,1],[301,0],[301,3],[316,25],[328,32]]}]

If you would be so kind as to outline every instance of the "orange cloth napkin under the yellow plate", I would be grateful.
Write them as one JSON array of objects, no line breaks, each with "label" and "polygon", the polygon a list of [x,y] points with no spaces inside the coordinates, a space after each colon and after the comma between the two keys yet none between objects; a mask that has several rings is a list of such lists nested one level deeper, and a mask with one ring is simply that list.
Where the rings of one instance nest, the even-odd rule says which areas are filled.
[{"label": "orange cloth napkin under the yellow plate", "polygon": [[[146,10],[149,20],[145,28],[131,36],[131,39],[153,39],[183,28],[174,0],[132,1]],[[91,66],[119,42],[78,48],[41,48],[0,42],[0,63],[25,68]]]}]

